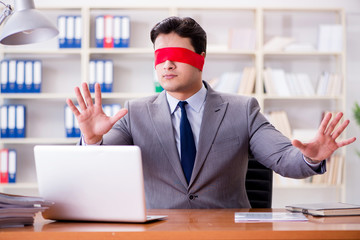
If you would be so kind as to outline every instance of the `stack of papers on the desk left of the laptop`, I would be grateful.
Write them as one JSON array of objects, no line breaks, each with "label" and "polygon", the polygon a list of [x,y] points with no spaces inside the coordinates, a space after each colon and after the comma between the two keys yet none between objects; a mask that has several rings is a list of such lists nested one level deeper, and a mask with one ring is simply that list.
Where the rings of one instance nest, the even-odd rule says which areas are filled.
[{"label": "stack of papers on the desk left of the laptop", "polygon": [[0,228],[32,225],[35,214],[52,204],[39,197],[0,193]]}]

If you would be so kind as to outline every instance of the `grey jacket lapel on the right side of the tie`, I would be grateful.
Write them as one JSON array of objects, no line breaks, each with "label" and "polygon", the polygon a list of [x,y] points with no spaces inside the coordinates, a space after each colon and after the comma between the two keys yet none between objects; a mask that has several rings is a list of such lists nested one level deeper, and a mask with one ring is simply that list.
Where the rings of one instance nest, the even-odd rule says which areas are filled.
[{"label": "grey jacket lapel on the right side of the tie", "polygon": [[212,90],[207,84],[208,93],[204,108],[204,115],[200,127],[199,144],[195,159],[194,169],[191,176],[189,187],[199,174],[211,145],[215,139],[219,126],[224,118],[228,102],[224,102],[220,95]]}]

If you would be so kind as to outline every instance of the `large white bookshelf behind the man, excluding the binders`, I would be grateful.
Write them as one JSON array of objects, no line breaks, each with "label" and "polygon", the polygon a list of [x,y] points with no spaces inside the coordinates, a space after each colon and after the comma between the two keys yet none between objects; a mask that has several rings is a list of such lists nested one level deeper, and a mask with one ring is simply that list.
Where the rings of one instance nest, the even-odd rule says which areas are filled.
[{"label": "large white bookshelf behind the man, excluding the binders", "polygon": [[[120,103],[154,93],[153,49],[150,29],[158,21],[171,16],[193,17],[208,34],[208,50],[203,78],[211,80],[224,72],[242,71],[254,67],[256,80],[250,94],[258,99],[262,111],[285,111],[292,129],[316,129],[323,111],[345,111],[346,46],[345,15],[342,9],[285,9],[285,8],[222,8],[222,7],[149,7],[121,6],[120,3],[102,7],[41,7],[51,21],[59,15],[81,15],[82,48],[59,49],[58,40],[19,47],[0,47],[1,58],[41,59],[43,62],[42,92],[39,94],[0,94],[0,104],[27,106],[27,138],[0,139],[0,147],[18,151],[18,183],[0,185],[0,191],[18,192],[29,188],[36,192],[36,175],[32,148],[36,144],[74,144],[77,139],[65,138],[65,99],[75,99],[73,89],[89,80],[89,61],[111,59],[114,63],[112,93],[103,94],[103,103]],[[126,15],[131,19],[129,48],[96,48],[95,18],[102,14]],[[342,49],[318,51],[318,26],[340,24]],[[251,41],[236,44],[236,33],[253,33]],[[233,32],[230,39],[230,32]],[[245,33],[244,33],[245,34]],[[314,46],[312,50],[269,50],[264,45],[275,36],[291,37],[295,42]],[[230,48],[230,42],[232,48]],[[244,45],[250,47],[244,47]],[[336,96],[278,96],[264,92],[264,69],[283,69],[287,73],[307,73],[313,86],[322,71],[336,72],[341,78],[342,91]],[[139,70],[140,69],[140,70]],[[342,156],[345,151],[341,151]],[[274,183],[274,189],[318,189],[329,199],[343,197],[344,183],[333,185],[289,182]],[[334,190],[335,189],[335,190]],[[329,190],[327,192],[327,190]],[[302,192],[302,191],[299,191]],[[19,192],[20,194],[22,192]],[[295,193],[296,195],[296,193]]]}]

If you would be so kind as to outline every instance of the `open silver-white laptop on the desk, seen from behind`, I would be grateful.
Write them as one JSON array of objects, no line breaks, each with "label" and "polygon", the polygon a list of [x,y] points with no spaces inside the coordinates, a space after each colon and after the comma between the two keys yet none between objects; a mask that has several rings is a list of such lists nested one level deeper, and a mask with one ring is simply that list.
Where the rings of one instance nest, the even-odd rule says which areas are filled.
[{"label": "open silver-white laptop on the desk, seen from behind", "polygon": [[34,147],[40,196],[54,205],[54,220],[147,222],[140,148],[137,146]]}]

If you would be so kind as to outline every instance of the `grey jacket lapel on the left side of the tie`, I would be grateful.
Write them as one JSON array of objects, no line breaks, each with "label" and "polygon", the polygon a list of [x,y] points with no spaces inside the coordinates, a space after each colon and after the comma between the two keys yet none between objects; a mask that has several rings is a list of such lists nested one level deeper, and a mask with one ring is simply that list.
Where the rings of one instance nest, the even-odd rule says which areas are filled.
[{"label": "grey jacket lapel on the left side of the tie", "polygon": [[163,147],[170,164],[174,168],[176,175],[179,177],[184,187],[187,188],[188,184],[181,167],[180,157],[175,143],[171,114],[166,100],[165,91],[160,93],[153,103],[148,103],[148,109],[161,146]]}]

